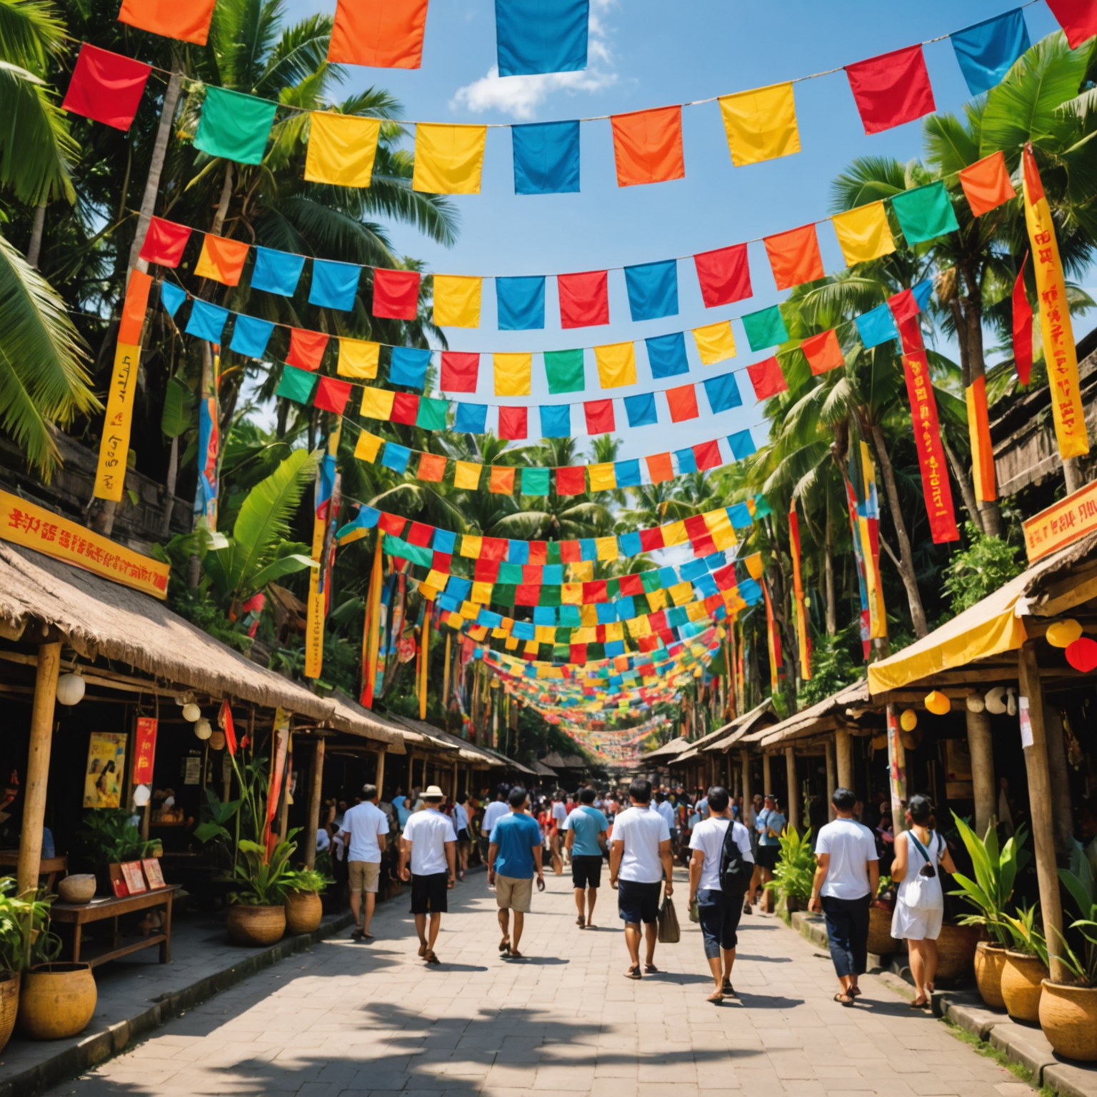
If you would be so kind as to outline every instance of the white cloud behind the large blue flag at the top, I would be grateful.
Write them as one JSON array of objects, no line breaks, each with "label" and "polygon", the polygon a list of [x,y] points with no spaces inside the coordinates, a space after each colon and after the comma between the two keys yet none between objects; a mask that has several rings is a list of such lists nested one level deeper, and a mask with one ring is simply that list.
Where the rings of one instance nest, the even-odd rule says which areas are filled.
[{"label": "white cloud behind the large blue flag at the top", "polygon": [[618,75],[613,71],[608,32],[599,19],[614,2],[615,0],[591,0],[588,67],[583,71],[500,77],[499,67],[493,65],[487,76],[459,88],[450,106],[464,106],[476,114],[502,111],[521,122],[530,122],[536,116],[536,109],[555,91],[575,94],[600,91],[617,83]]}]

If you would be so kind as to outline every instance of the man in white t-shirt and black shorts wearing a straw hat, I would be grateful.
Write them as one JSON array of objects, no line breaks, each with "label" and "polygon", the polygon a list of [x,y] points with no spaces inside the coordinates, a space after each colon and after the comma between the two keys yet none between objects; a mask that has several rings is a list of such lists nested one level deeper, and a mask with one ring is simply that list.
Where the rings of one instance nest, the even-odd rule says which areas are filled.
[{"label": "man in white t-shirt and black shorts wearing a straw hat", "polygon": [[446,892],[457,875],[457,836],[450,817],[439,811],[444,799],[445,793],[437,784],[430,785],[422,794],[423,810],[411,814],[400,836],[400,880],[411,881],[411,913],[419,935],[419,955],[427,963],[439,962],[434,941],[448,909]]}]

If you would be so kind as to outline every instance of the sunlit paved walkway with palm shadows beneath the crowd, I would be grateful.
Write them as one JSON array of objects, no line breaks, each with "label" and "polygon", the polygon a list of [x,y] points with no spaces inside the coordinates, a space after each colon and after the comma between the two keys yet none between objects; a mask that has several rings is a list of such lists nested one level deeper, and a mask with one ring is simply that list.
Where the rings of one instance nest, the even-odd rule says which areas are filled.
[{"label": "sunlit paved walkway with palm shadows beneath the crowd", "polygon": [[[685,908],[685,873],[678,908]],[[400,896],[371,945],[330,940],[169,1022],[54,1093],[263,1097],[1030,1097],[1033,1090],[914,1014],[874,979],[832,1000],[833,973],[774,918],[744,918],[738,998],[704,1000],[698,927],[659,946],[663,973],[630,982],[615,893],[598,930],[575,925],[570,879],[534,896],[523,961],[502,961],[483,872],[459,884],[439,968],[416,958]],[[598,917],[600,915],[600,917]]]}]

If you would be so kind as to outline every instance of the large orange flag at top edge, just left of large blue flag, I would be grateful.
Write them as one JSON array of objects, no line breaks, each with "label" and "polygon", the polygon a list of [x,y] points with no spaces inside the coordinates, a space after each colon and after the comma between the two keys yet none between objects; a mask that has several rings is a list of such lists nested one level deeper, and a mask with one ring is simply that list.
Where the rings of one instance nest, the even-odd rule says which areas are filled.
[{"label": "large orange flag at top edge, just left of large blue flag", "polygon": [[338,0],[328,60],[371,68],[419,68],[427,0]]}]

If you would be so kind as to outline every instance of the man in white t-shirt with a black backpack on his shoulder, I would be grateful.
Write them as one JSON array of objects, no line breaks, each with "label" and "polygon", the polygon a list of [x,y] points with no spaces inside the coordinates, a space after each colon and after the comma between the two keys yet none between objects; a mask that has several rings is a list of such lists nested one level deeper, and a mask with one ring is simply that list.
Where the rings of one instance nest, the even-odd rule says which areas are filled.
[{"label": "man in white t-shirt with a black backpack on his shoulder", "polygon": [[[754,873],[754,853],[750,851],[750,832],[732,818],[728,791],[723,785],[714,784],[705,796],[705,804],[709,817],[698,823],[689,836],[689,848],[693,850],[689,862],[689,898],[690,905],[697,900],[701,932],[704,935],[704,955],[716,984],[709,1002],[723,1002],[725,995],[735,993],[732,966],[738,943],[736,930],[743,916],[743,894]],[[742,862],[739,878],[743,890],[725,893],[720,868],[728,827],[732,828],[732,840],[738,848]]]}]

